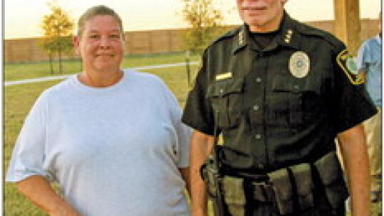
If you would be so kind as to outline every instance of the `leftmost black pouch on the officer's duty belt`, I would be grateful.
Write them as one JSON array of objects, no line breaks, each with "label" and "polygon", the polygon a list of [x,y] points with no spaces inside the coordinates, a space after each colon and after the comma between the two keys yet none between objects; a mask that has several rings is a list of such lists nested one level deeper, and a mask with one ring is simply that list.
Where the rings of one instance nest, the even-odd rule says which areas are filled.
[{"label": "leftmost black pouch on the officer's duty belt", "polygon": [[222,183],[224,200],[230,215],[245,216],[244,179],[225,175]]}]

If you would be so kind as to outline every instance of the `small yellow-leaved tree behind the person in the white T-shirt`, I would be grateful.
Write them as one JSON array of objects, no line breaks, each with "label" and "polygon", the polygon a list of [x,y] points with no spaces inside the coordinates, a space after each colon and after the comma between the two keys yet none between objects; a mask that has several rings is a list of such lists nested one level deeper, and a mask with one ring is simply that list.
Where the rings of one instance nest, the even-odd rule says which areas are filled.
[{"label": "small yellow-leaved tree behind the person in the white T-shirt", "polygon": [[59,72],[63,74],[63,53],[73,51],[72,34],[74,23],[59,6],[50,6],[51,13],[44,16],[41,28],[44,32],[43,49],[49,55],[50,73],[53,74],[53,57],[58,54]]}]

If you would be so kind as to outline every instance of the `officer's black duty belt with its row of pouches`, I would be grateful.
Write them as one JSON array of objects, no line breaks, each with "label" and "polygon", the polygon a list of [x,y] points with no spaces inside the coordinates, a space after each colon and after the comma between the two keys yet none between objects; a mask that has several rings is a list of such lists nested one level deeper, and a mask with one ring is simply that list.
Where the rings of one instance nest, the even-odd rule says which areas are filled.
[{"label": "officer's black duty belt with its row of pouches", "polygon": [[282,215],[294,212],[297,207],[304,210],[315,205],[313,191],[319,186],[335,209],[343,205],[348,196],[335,152],[326,154],[314,163],[300,163],[258,175],[267,177],[258,180],[249,176],[222,176],[220,188],[223,189],[223,197],[230,211],[236,211],[239,204],[245,206],[245,198],[272,202]]}]

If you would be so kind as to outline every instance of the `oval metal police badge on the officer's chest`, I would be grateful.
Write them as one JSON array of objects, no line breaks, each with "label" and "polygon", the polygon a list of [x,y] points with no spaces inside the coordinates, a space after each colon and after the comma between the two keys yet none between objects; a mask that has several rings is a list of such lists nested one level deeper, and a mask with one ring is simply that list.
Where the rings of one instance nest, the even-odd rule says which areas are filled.
[{"label": "oval metal police badge on the officer's chest", "polygon": [[289,72],[294,77],[303,78],[309,72],[309,57],[302,51],[297,51],[289,59]]}]

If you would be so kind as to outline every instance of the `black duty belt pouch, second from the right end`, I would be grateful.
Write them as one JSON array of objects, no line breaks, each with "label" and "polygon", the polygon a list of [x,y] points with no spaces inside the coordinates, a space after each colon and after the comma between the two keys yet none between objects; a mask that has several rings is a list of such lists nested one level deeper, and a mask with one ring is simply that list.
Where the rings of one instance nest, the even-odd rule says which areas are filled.
[{"label": "black duty belt pouch, second from the right end", "polygon": [[314,206],[314,197],[312,194],[313,183],[311,175],[311,166],[309,163],[300,163],[289,167],[294,175],[297,188],[297,200],[299,208],[305,210]]}]

